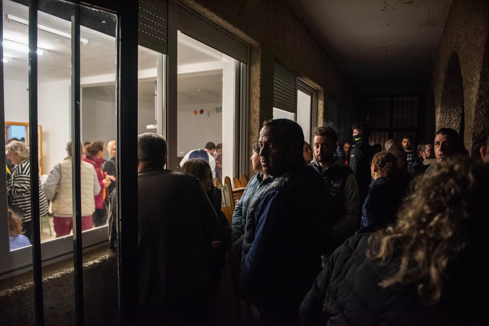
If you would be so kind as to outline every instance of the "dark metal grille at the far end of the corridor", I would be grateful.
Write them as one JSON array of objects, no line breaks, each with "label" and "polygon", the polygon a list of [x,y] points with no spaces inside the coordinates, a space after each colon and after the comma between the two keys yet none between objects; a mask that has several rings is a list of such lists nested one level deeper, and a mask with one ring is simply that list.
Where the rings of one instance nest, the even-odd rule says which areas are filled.
[{"label": "dark metal grille at the far end of the corridor", "polygon": [[389,139],[399,142],[410,136],[420,141],[420,97],[391,96],[367,98],[365,113],[371,127],[370,144],[383,144]]}]

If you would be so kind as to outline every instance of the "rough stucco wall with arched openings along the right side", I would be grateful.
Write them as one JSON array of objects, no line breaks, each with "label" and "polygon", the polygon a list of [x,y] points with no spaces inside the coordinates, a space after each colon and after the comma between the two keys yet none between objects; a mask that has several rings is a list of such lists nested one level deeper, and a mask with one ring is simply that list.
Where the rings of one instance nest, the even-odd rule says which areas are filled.
[{"label": "rough stucco wall with arched openings along the right side", "polygon": [[453,58],[454,52],[458,56],[464,89],[464,143],[473,155],[489,132],[488,31],[489,1],[454,0],[433,69],[436,128],[452,127],[460,117],[445,114],[444,87],[450,56]]}]

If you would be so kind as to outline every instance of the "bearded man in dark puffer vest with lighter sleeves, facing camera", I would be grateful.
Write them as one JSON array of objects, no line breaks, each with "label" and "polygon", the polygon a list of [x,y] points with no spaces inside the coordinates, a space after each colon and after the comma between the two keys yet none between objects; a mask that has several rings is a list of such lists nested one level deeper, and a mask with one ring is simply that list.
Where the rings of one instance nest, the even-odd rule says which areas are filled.
[{"label": "bearded man in dark puffer vest with lighter sleeves, facing camera", "polygon": [[323,265],[334,249],[358,229],[358,186],[352,169],[334,155],[337,139],[333,128],[317,128],[312,142],[316,162],[309,164],[328,186],[325,214],[332,220],[333,229],[323,253]]}]

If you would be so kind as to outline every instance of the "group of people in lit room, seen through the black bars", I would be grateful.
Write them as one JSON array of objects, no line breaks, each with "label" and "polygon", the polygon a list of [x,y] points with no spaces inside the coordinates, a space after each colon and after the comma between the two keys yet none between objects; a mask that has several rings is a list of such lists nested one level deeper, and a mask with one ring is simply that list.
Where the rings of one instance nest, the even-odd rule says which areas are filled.
[{"label": "group of people in lit room, seen through the black bars", "polygon": [[[108,145],[106,161],[103,142],[80,144],[82,231],[107,221],[109,194],[116,182],[115,141]],[[5,149],[10,249],[13,250],[33,241],[30,157],[28,145],[18,139],[10,139]],[[71,141],[65,149],[67,157],[53,166],[45,181],[41,182],[39,177],[39,216],[51,213],[56,237],[69,235],[73,228]]]}]

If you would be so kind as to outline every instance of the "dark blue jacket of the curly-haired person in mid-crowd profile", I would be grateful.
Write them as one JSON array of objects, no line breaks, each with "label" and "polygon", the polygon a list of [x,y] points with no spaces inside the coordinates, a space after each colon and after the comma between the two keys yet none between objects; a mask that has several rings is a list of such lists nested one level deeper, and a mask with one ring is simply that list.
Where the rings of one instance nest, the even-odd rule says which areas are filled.
[{"label": "dark blue jacket of the curly-haired person in mid-crowd profile", "polygon": [[375,230],[396,222],[401,197],[400,187],[394,179],[378,177],[370,184],[365,198],[361,227]]}]

